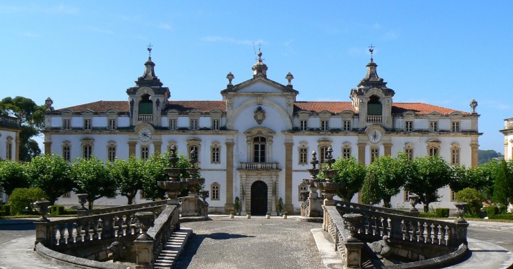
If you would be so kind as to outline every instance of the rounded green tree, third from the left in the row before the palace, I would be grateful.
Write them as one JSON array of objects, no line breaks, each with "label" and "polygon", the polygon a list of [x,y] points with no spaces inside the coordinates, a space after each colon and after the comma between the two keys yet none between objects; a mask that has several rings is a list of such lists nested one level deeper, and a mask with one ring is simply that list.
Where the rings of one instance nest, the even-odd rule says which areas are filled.
[{"label": "rounded green tree, third from the left in the row before the palace", "polygon": [[110,177],[103,161],[96,157],[77,158],[71,165],[76,193],[88,194],[89,210],[93,209],[95,200],[116,195],[116,184]]}]

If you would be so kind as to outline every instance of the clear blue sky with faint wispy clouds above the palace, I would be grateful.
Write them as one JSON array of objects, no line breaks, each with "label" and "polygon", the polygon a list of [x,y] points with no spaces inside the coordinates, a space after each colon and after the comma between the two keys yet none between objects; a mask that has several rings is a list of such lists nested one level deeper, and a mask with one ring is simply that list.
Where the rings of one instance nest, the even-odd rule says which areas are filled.
[{"label": "clear blue sky with faint wispy clouds above the palace", "polygon": [[[367,47],[394,102],[470,111],[480,149],[503,153],[513,117],[513,1],[0,1],[0,98],[56,108],[127,100],[151,42],[172,100],[221,100],[252,77],[261,43],[268,77],[297,100],[349,100]],[[257,46],[258,50],[258,46]]]}]

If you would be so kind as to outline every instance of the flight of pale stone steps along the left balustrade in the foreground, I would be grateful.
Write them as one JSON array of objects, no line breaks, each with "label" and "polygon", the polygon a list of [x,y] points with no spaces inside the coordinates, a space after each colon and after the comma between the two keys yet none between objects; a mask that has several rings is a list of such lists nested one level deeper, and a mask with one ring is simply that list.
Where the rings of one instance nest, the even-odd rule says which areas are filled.
[{"label": "flight of pale stone steps along the left balustrade in the foreground", "polygon": [[184,249],[187,239],[192,234],[192,229],[180,229],[169,237],[166,247],[160,252],[159,257],[155,259],[155,268],[171,268],[175,264],[180,252]]}]

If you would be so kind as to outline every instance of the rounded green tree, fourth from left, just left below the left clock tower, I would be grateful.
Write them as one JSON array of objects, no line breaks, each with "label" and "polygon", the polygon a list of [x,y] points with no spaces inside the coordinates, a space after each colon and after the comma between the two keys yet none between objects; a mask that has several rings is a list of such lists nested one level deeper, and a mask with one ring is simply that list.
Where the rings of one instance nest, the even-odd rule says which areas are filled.
[{"label": "rounded green tree, fourth from left, just left below the left clock tower", "polygon": [[107,165],[107,168],[120,194],[128,198],[128,205],[132,205],[137,192],[143,187],[143,161],[131,156],[128,161],[116,159],[114,163]]}]

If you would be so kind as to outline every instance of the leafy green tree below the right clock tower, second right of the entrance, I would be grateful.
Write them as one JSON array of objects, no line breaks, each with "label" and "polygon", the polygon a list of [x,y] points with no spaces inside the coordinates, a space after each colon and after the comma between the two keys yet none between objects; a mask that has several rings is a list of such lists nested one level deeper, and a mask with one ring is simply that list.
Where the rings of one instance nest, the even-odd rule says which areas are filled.
[{"label": "leafy green tree below the right clock tower, second right of the entrance", "polygon": [[[383,200],[384,206],[390,208],[392,196],[401,192],[401,187],[412,173],[411,170],[410,160],[403,153],[399,153],[395,158],[381,156],[374,160],[367,165],[367,176],[365,176],[367,183],[363,183],[362,201],[375,204]],[[377,181],[377,184],[374,181]]]}]

